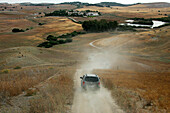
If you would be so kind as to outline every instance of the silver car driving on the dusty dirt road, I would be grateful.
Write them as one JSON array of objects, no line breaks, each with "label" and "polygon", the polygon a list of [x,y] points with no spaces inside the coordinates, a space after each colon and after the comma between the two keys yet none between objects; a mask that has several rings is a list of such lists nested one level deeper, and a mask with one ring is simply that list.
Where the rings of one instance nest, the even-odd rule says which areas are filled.
[{"label": "silver car driving on the dusty dirt road", "polygon": [[81,79],[81,87],[87,89],[100,89],[100,78],[95,74],[85,74]]}]

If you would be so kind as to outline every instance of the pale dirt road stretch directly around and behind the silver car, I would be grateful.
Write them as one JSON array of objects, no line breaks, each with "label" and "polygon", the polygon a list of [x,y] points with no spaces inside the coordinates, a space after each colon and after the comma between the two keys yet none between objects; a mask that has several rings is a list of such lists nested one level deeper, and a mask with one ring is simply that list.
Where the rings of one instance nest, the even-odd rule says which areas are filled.
[{"label": "pale dirt road stretch directly around and behind the silver car", "polygon": [[78,69],[75,74],[75,95],[72,113],[123,113],[111,97],[110,92],[101,86],[99,91],[83,91],[80,76],[87,70]]}]

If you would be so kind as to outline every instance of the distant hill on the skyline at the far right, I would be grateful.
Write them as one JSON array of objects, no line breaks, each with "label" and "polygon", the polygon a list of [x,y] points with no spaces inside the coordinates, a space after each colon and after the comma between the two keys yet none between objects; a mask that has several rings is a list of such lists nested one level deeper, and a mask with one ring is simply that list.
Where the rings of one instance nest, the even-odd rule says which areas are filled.
[{"label": "distant hill on the skyline at the far right", "polygon": [[170,7],[170,3],[167,3],[167,2],[144,3],[143,5],[150,7],[150,8]]}]

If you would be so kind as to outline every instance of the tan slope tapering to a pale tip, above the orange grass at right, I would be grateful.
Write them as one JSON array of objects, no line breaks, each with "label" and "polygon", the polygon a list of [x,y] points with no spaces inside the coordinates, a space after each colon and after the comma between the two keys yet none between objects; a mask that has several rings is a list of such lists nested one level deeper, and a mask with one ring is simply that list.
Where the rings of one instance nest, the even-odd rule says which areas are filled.
[{"label": "tan slope tapering to a pale tip, above the orange grass at right", "polygon": [[167,26],[139,33],[120,34],[101,39],[95,44],[104,48],[113,47],[128,55],[169,63],[169,32],[170,27]]}]

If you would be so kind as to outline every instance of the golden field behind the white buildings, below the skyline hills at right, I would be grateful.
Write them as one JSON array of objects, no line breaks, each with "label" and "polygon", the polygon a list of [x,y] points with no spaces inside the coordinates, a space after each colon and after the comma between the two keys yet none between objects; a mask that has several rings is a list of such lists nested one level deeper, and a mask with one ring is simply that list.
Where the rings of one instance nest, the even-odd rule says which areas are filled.
[{"label": "golden field behind the white buildings, below the skyline hills at right", "polygon": [[[99,11],[101,13],[109,13],[113,14],[115,17],[125,17],[125,18],[132,18],[132,17],[139,17],[139,18],[160,18],[164,17],[164,14],[170,14],[169,10],[170,7],[167,8],[150,8],[145,5],[134,5],[129,7],[119,7],[119,6],[112,6],[108,7],[96,7],[96,6],[88,6],[81,9],[79,11],[84,10],[93,10]],[[158,12],[160,11],[160,12]],[[159,15],[162,14],[162,15]],[[113,16],[112,15],[112,16]]]}]

